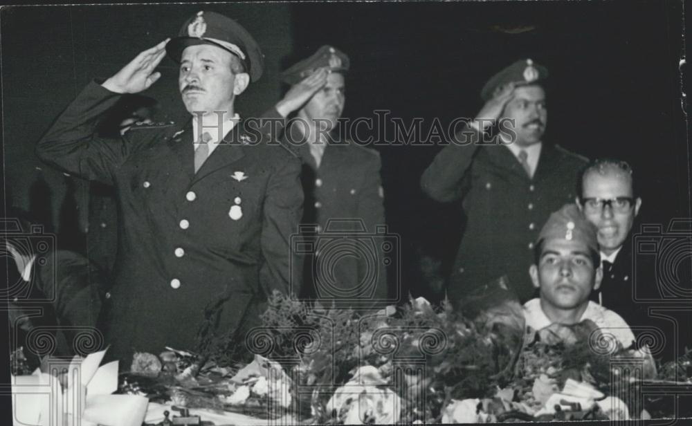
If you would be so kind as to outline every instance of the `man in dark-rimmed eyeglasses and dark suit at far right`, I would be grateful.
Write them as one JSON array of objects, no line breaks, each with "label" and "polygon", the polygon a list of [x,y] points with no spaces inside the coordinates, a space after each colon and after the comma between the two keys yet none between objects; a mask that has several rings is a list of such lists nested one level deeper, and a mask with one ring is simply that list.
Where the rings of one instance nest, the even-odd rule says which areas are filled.
[{"label": "man in dark-rimmed eyeglasses and dark suit at far right", "polygon": [[598,229],[603,281],[592,300],[636,324],[641,306],[632,301],[632,243],[630,230],[639,214],[632,168],[619,160],[594,160],[581,177],[579,206]]}]

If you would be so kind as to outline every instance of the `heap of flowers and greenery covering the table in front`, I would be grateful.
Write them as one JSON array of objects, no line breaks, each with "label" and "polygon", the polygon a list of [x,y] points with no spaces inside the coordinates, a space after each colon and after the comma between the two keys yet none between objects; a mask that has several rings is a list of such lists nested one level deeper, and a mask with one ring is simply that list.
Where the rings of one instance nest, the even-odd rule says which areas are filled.
[{"label": "heap of flowers and greenery covering the table in front", "polygon": [[646,351],[605,344],[590,321],[525,330],[503,288],[465,311],[411,299],[367,315],[275,293],[244,342],[252,362],[228,362],[219,349],[228,342],[139,354],[121,391],[338,425],[671,416],[675,407],[658,400],[638,405],[641,384],[692,387],[691,356],[657,366]]}]

